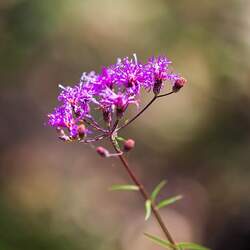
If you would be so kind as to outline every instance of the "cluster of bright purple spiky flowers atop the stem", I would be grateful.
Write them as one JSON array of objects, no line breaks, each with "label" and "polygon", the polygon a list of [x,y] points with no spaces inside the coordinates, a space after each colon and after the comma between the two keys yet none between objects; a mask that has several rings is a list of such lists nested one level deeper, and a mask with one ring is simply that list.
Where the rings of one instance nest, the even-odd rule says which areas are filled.
[{"label": "cluster of bright purple spiky flowers atop the stem", "polygon": [[[185,84],[184,78],[170,71],[170,64],[164,56],[152,57],[143,64],[134,55],[133,59],[118,59],[100,74],[83,73],[74,87],[59,85],[60,106],[48,115],[48,124],[67,141],[86,139],[94,131],[108,133],[130,104],[139,106],[142,89],[157,96],[166,81],[172,84],[173,91]],[[103,124],[94,118],[97,111],[102,113]]]}]

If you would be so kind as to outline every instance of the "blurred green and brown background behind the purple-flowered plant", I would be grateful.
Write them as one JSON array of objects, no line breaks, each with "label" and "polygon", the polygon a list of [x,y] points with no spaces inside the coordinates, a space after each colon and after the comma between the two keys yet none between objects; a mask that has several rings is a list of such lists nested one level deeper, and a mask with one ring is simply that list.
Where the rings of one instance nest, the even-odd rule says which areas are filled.
[{"label": "blurred green and brown background behind the purple-flowered plant", "polygon": [[[157,250],[163,237],[117,159],[66,144],[45,126],[58,84],[134,52],[167,55],[188,79],[123,136],[133,169],[164,198],[176,240],[250,244],[250,2],[0,0],[0,249]],[[149,98],[145,96],[145,102]]]}]

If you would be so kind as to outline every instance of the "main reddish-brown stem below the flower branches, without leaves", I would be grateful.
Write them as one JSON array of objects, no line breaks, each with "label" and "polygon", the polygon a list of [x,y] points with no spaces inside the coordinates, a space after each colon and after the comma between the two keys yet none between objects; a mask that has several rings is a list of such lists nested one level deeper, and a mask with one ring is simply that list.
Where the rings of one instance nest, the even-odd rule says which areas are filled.
[{"label": "main reddish-brown stem below the flower branches, without leaves", "polygon": [[[112,145],[115,149],[115,151],[119,154],[122,151],[117,147],[116,142],[114,141],[114,139],[111,137],[110,138]],[[127,160],[125,159],[123,154],[118,155],[119,159],[121,160],[124,168],[126,169],[128,175],[130,176],[130,178],[132,179],[132,181],[135,183],[135,185],[137,185],[139,187],[139,191],[142,195],[142,197],[144,198],[145,201],[147,200],[151,200],[150,196],[148,195],[148,193],[146,192],[144,186],[142,185],[142,183],[137,179],[137,177],[135,176],[134,172],[132,171],[132,169],[129,167],[129,164],[127,162]],[[157,222],[159,223],[164,235],[166,236],[167,240],[173,245],[172,249],[173,250],[177,250],[175,241],[173,239],[173,237],[171,236],[170,232],[168,231],[166,225],[163,222],[163,219],[159,213],[159,211],[157,210],[155,203],[153,201],[151,201],[151,208],[152,208],[152,212],[157,220]]]}]

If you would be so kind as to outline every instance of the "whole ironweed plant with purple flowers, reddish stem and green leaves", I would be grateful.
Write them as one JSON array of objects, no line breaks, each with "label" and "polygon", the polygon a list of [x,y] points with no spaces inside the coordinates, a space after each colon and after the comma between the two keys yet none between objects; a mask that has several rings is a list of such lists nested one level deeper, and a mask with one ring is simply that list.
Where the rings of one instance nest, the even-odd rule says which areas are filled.
[{"label": "whole ironweed plant with purple flowers, reddish stem and green leaves", "polygon": [[[160,182],[149,194],[128,164],[125,155],[135,146],[133,139],[124,139],[119,132],[140,117],[159,98],[177,93],[186,79],[172,72],[171,61],[165,56],[149,58],[146,63],[128,57],[118,59],[111,66],[103,67],[100,74],[94,71],[83,73],[80,82],[73,87],[59,85],[60,105],[48,114],[48,124],[56,128],[58,137],[66,142],[98,143],[108,140],[114,151],[109,152],[102,146],[94,147],[101,157],[117,157],[133,181],[133,185],[113,185],[111,190],[139,191],[145,201],[145,220],[153,214],[162,229],[165,238],[145,233],[145,236],[167,249],[205,250],[195,243],[175,242],[165,225],[159,210],[182,197],[170,197],[156,203],[156,197],[166,184]],[[165,84],[171,91],[162,93]],[[152,92],[152,99],[143,108],[140,107],[141,92]],[[137,114],[129,120],[126,117],[128,107],[135,105]]]}]

